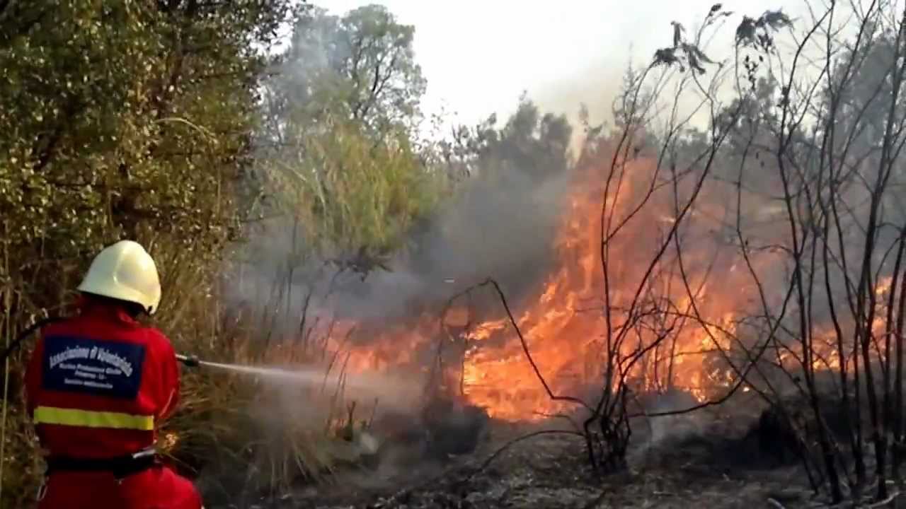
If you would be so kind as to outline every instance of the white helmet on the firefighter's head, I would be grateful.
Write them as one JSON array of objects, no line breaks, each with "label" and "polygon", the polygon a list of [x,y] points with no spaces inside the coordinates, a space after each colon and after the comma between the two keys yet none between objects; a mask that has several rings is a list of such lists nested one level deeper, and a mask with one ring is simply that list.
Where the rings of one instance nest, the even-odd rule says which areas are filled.
[{"label": "white helmet on the firefighter's head", "polygon": [[120,240],[94,257],[79,291],[137,303],[154,314],[160,303],[158,269],[139,243]]}]

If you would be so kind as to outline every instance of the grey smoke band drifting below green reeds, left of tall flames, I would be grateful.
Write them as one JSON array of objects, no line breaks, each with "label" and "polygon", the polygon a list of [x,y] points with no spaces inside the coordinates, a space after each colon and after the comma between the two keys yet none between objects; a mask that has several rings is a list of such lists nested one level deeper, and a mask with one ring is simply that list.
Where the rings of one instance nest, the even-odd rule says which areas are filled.
[{"label": "grey smoke band drifting below green reeds, left of tall flames", "polygon": [[306,249],[304,228],[291,217],[263,223],[247,239],[250,263],[239,284],[228,287],[232,301],[284,315],[277,325],[287,331],[298,329],[306,300],[309,311],[337,318],[410,317],[439,311],[452,295],[487,278],[518,303],[552,261],[572,173],[482,170],[410,231],[390,256],[389,270],[359,274],[322,259],[302,262],[297,254]]}]

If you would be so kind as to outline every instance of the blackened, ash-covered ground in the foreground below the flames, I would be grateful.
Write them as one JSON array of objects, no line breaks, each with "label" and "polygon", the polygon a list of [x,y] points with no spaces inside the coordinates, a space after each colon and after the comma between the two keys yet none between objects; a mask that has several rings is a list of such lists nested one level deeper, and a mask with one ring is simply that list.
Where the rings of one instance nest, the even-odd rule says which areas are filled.
[{"label": "blackened, ash-covered ground in the foreground below the flames", "polygon": [[[556,423],[563,428],[560,425]],[[631,468],[618,475],[592,475],[582,439],[560,434],[520,441],[487,464],[503,444],[542,429],[492,422],[471,453],[443,462],[421,460],[337,475],[332,485],[310,487],[262,507],[792,509],[820,505],[810,500],[800,468],[779,466],[758,452],[751,437],[734,437],[734,430],[719,421],[703,426],[699,420],[674,419],[640,428],[631,448]]]}]

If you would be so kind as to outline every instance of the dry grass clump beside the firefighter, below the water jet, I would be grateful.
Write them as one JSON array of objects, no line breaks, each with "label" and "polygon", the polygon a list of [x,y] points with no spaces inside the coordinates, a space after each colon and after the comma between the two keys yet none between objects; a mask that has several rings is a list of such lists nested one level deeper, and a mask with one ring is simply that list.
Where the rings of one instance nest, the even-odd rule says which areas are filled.
[{"label": "dry grass clump beside the firefighter, below the water jet", "polygon": [[188,475],[202,477],[212,502],[279,494],[330,474],[333,440],[323,419],[294,418],[304,395],[288,406],[282,390],[221,373],[193,374],[186,382],[183,407],[166,425],[166,452]]}]

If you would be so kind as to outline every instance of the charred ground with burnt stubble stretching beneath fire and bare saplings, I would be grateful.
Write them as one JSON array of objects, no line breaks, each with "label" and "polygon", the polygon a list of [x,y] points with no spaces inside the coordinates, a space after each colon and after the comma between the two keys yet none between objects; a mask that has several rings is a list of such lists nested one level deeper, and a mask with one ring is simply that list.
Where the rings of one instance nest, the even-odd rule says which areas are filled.
[{"label": "charred ground with burnt stubble stretching beneath fire and bare saplings", "polygon": [[[673,396],[642,403],[649,414],[689,408]],[[582,437],[565,419],[545,424],[490,420],[483,410],[450,402],[432,404],[420,418],[378,418],[368,427],[369,440],[350,438],[360,451],[330,482],[300,486],[281,500],[217,504],[210,509],[416,509],[525,508],[599,509],[625,507],[774,509],[827,507],[809,489],[796,450],[801,440],[776,407],[758,406],[744,396],[726,406],[692,413],[632,421],[628,471],[594,475]],[[786,401],[784,415],[799,422],[805,404]],[[824,409],[836,435],[840,412]],[[845,420],[845,419],[843,419]],[[807,419],[803,421],[807,428]],[[802,424],[802,423],[801,423]],[[541,433],[544,432],[544,433]],[[527,435],[535,434],[533,437]],[[501,452],[501,447],[526,437]],[[843,436],[836,437],[842,444]],[[364,443],[371,446],[361,447]],[[378,447],[380,445],[380,447]],[[870,448],[870,447],[869,447]],[[361,453],[361,451],[370,451]],[[866,467],[873,471],[866,449]],[[493,459],[493,461],[489,461]],[[241,480],[240,480],[241,484]],[[906,486],[892,492],[906,493]],[[242,489],[240,487],[240,489]],[[245,490],[243,490],[245,493]],[[874,493],[874,488],[871,488]],[[867,497],[871,495],[864,494]],[[902,499],[902,500],[901,500]],[[237,501],[231,497],[229,501]],[[868,502],[860,507],[906,507],[906,496],[893,504]],[[851,507],[850,505],[843,505]],[[843,507],[838,506],[838,507]]]}]

